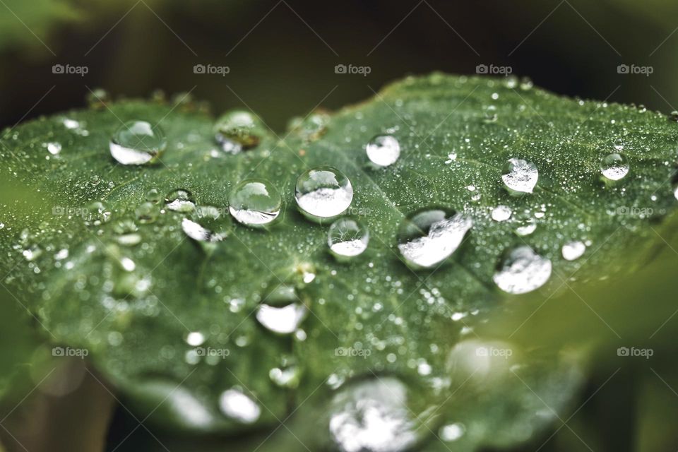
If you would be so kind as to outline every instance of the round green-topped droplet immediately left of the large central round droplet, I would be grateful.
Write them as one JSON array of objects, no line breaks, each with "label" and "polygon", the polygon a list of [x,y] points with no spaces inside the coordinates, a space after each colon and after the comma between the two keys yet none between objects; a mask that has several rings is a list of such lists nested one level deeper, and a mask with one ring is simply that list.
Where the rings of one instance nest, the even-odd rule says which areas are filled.
[{"label": "round green-topped droplet immediately left of the large central round droplet", "polygon": [[245,179],[228,197],[233,218],[246,226],[263,227],[280,215],[283,199],[278,190],[264,179]]}]

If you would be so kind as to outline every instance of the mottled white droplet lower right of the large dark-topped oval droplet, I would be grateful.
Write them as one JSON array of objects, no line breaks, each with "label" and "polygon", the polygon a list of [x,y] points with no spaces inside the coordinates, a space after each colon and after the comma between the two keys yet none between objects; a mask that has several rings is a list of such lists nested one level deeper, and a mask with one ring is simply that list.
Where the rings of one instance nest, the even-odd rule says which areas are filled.
[{"label": "mottled white droplet lower right of the large dark-topped oval droplet", "polygon": [[507,252],[494,273],[494,283],[509,294],[524,294],[542,287],[551,277],[551,261],[530,246]]}]

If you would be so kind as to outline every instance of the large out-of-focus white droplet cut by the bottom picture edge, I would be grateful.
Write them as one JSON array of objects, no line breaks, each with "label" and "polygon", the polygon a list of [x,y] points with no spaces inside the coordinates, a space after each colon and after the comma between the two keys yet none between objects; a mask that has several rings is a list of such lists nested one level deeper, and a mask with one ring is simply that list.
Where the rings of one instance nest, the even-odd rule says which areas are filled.
[{"label": "large out-of-focus white droplet cut by the bottom picture edge", "polygon": [[331,401],[329,431],[341,452],[410,450],[419,439],[408,388],[383,376],[343,388]]}]

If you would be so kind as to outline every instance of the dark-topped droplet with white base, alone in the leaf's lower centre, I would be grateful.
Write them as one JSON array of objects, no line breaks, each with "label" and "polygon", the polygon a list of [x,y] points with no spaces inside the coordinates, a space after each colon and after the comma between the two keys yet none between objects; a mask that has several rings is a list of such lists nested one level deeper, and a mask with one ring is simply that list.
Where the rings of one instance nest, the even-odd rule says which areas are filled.
[{"label": "dark-topped droplet with white base, alone in the leaf's lower centre", "polygon": [[259,304],[256,319],[268,331],[290,334],[308,314],[309,311],[299,300],[295,287],[281,284]]}]

